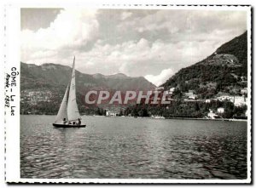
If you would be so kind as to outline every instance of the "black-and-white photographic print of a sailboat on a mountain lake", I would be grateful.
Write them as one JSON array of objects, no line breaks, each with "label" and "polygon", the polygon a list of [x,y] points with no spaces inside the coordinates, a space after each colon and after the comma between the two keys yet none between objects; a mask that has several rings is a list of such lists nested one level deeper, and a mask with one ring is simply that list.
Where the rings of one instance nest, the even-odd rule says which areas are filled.
[{"label": "black-and-white photographic print of a sailboat on a mountain lake", "polygon": [[19,181],[251,182],[249,6],[19,10]]}]

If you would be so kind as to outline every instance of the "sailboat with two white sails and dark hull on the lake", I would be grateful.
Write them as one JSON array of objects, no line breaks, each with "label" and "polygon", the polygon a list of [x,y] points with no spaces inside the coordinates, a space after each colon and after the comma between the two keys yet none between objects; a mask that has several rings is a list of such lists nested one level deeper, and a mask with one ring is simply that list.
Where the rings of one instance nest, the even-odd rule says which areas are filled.
[{"label": "sailboat with two white sails and dark hull on the lake", "polygon": [[76,76],[75,76],[75,57],[73,58],[73,71],[70,83],[61,102],[60,109],[53,126],[56,128],[84,128],[86,125],[81,124],[81,116],[76,100]]}]

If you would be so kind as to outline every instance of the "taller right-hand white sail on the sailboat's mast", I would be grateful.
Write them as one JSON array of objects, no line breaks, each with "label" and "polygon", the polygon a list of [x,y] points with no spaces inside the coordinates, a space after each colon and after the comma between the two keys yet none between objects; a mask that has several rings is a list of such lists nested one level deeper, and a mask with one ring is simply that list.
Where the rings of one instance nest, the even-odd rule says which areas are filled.
[{"label": "taller right-hand white sail on the sailboat's mast", "polygon": [[75,75],[75,58],[73,58],[73,71],[69,88],[69,96],[67,101],[67,118],[68,121],[78,120],[80,117],[79,108],[76,99],[76,75]]}]

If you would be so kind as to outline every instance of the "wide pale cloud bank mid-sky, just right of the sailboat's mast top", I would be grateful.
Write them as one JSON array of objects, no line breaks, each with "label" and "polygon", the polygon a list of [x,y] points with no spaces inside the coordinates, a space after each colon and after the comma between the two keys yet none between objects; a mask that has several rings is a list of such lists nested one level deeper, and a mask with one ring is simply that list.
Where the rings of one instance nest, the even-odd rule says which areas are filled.
[{"label": "wide pale cloud bank mid-sky, just right of the sailboat's mast top", "polygon": [[[131,77],[144,77],[148,74],[158,73],[160,70],[175,66],[173,70],[187,65],[190,60],[198,60],[199,45],[189,44],[193,57],[183,58],[187,51],[183,47],[188,43],[164,43],[161,40],[149,42],[145,38],[138,41],[127,41],[116,45],[96,43],[88,52],[80,53],[81,71],[102,74],[122,72]],[[195,45],[195,48],[192,46]],[[207,44],[210,45],[210,44]],[[178,47],[178,48],[177,48]],[[193,51],[192,51],[193,50]],[[172,53],[174,52],[175,53]],[[78,60],[79,60],[78,59]],[[179,61],[183,59],[183,61]],[[87,66],[86,62],[94,62]]]}]

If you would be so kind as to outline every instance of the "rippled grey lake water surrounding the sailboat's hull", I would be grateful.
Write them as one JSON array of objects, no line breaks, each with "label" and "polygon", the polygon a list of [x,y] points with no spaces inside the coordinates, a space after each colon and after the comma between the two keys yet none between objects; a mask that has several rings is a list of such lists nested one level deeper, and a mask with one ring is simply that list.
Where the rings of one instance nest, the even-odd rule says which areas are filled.
[{"label": "rippled grey lake water surrounding the sailboat's hull", "polygon": [[246,179],[247,122],[20,116],[21,178]]}]

